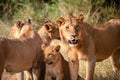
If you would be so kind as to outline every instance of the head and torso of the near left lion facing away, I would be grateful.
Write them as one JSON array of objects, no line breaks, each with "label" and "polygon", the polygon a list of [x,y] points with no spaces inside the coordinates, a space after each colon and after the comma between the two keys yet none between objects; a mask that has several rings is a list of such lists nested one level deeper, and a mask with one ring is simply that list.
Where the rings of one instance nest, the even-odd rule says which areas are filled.
[{"label": "head and torso of the near left lion facing away", "polygon": [[41,39],[32,25],[24,23],[19,34],[19,39],[0,39],[0,77],[4,68],[13,73],[28,70],[42,57]]}]

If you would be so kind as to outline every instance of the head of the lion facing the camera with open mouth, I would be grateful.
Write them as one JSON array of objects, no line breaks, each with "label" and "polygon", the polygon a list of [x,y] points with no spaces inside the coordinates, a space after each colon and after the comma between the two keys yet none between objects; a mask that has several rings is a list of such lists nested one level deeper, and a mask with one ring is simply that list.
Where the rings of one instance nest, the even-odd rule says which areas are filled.
[{"label": "head of the lion facing the camera with open mouth", "polygon": [[57,18],[57,23],[60,26],[59,32],[61,40],[69,46],[77,46],[83,44],[86,37],[85,26],[83,22],[83,15],[75,17],[72,14],[68,14],[66,18]]}]

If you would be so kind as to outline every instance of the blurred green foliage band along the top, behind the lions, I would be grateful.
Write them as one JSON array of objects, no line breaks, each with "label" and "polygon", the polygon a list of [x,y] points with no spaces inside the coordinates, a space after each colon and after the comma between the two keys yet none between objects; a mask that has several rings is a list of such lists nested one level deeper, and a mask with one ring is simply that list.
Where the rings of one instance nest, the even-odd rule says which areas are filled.
[{"label": "blurred green foliage band along the top, behind the lions", "polygon": [[[98,26],[111,18],[120,17],[117,0],[0,0],[0,19],[15,22],[31,18],[35,29],[49,19],[65,16],[70,10],[83,13],[85,21]],[[108,5],[109,4],[109,5]],[[117,5],[113,6],[113,5]]]}]

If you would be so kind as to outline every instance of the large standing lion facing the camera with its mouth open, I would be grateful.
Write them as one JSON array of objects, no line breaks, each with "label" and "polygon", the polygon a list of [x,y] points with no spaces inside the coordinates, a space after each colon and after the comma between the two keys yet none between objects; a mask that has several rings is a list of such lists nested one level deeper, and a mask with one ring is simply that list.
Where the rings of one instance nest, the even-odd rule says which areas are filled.
[{"label": "large standing lion facing the camera with its mouth open", "polygon": [[[79,60],[86,61],[86,80],[93,80],[95,63],[114,56],[114,51],[120,48],[119,20],[108,21],[102,25],[104,28],[94,28],[83,19],[83,15],[76,17],[70,13],[56,20],[61,40],[68,47],[71,80],[77,80]],[[115,56],[113,61],[120,72],[119,57]]]}]

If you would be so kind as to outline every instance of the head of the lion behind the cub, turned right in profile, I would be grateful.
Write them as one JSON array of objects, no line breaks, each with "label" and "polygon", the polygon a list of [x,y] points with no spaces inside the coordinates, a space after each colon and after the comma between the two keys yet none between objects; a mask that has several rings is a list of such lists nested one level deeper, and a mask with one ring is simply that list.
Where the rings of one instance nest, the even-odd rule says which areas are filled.
[{"label": "head of the lion behind the cub, turned right in profile", "polygon": [[38,34],[45,43],[52,39],[60,39],[59,28],[50,20],[45,21],[43,26],[38,30]]}]

